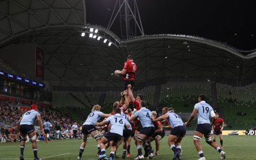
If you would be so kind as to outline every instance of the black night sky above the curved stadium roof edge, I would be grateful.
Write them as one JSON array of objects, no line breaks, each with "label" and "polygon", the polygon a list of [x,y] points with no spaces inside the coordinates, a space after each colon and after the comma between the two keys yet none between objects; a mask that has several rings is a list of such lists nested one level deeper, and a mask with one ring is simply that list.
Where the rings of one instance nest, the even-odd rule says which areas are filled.
[{"label": "black night sky above the curved stadium roof edge", "polygon": [[[115,1],[86,0],[87,23],[106,28]],[[227,42],[237,49],[256,49],[255,0],[137,0],[137,3],[145,35],[202,36]],[[120,36],[119,17],[111,31]]]}]

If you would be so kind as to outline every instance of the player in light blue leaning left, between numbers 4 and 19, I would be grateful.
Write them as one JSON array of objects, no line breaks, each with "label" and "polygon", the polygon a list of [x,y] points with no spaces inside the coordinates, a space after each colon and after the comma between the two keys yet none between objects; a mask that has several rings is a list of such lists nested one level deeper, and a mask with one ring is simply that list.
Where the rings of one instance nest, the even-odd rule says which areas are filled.
[{"label": "player in light blue leaning left, between numbers 4 and 19", "polygon": [[[164,114],[163,116],[159,116],[153,122],[168,120],[168,122],[172,125],[172,131],[170,132],[168,138],[168,145],[174,152],[173,160],[180,159],[180,152],[181,152],[181,141],[182,138],[186,135],[186,127],[183,125],[183,121],[179,115],[174,113],[173,108],[168,109],[168,113]],[[154,118],[153,118],[154,119]],[[176,145],[175,145],[176,142]]]}]

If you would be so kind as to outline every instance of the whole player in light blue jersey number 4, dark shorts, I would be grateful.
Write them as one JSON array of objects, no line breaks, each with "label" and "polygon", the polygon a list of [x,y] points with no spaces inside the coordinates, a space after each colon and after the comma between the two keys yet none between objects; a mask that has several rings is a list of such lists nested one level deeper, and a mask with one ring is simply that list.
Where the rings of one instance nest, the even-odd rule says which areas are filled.
[{"label": "whole player in light blue jersey number 4, dark shorts", "polygon": [[152,153],[152,150],[150,149],[148,143],[145,143],[145,140],[150,138],[150,136],[153,136],[155,133],[155,127],[152,122],[152,113],[149,109],[146,108],[147,102],[141,101],[140,102],[140,110],[136,111],[133,116],[129,117],[129,120],[132,121],[135,118],[140,118],[140,122],[142,125],[142,129],[140,131],[140,134],[136,135],[136,145],[138,150],[138,156],[135,159],[144,159],[144,156],[142,154],[142,145],[144,145],[144,148],[147,148],[148,152],[148,158],[152,159],[154,157],[154,154]]}]

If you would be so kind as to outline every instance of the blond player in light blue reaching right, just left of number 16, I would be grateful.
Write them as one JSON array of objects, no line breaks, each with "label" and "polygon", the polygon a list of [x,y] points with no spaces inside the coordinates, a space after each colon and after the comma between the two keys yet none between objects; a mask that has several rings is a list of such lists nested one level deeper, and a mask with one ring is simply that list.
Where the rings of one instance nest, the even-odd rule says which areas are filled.
[{"label": "blond player in light blue reaching right, just left of number 16", "polygon": [[104,114],[100,111],[100,106],[99,105],[95,105],[92,108],[92,113],[90,113],[87,116],[87,119],[85,120],[83,127],[82,127],[82,133],[83,133],[83,143],[80,146],[79,149],[79,155],[77,156],[77,159],[81,159],[82,154],[84,152],[84,148],[86,146],[86,143],[88,141],[88,134],[91,134],[95,140],[97,141],[97,147],[98,150],[100,150],[100,142],[101,142],[101,138],[100,138],[100,132],[96,129],[95,124],[98,120],[100,120],[100,118],[108,118],[109,114]]}]

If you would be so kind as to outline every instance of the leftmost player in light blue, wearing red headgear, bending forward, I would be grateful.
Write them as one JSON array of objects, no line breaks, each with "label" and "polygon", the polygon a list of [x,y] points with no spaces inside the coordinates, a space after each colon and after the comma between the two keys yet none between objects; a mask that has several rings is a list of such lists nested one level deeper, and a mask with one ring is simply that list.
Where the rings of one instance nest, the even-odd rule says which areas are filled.
[{"label": "leftmost player in light blue, wearing red headgear, bending forward", "polygon": [[[35,110],[36,109],[36,110]],[[27,135],[31,140],[32,149],[34,152],[34,160],[39,160],[37,157],[37,146],[36,146],[36,131],[34,128],[34,121],[38,121],[38,125],[40,126],[40,130],[42,134],[45,136],[44,127],[42,124],[41,116],[37,111],[37,108],[33,108],[31,106],[31,110],[27,111],[20,117],[19,122],[17,123],[17,132],[20,132],[20,160],[24,160],[24,148],[27,140]]]}]

